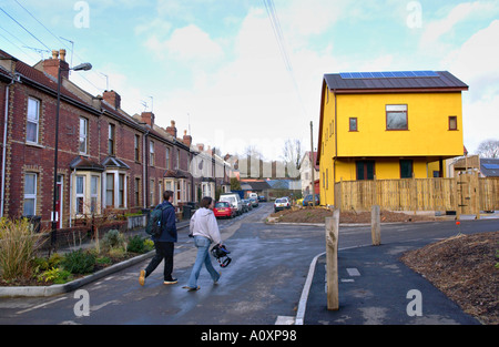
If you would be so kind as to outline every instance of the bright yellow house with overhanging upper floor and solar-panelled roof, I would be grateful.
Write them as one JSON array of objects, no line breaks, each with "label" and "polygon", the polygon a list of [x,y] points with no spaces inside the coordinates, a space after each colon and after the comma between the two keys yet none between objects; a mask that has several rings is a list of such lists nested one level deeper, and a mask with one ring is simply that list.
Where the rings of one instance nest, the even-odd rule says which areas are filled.
[{"label": "bright yellow house with overhanging upper floor and solar-panelled roof", "polygon": [[320,204],[334,183],[444,175],[442,161],[464,154],[461,92],[447,71],[325,74],[317,162]]}]

